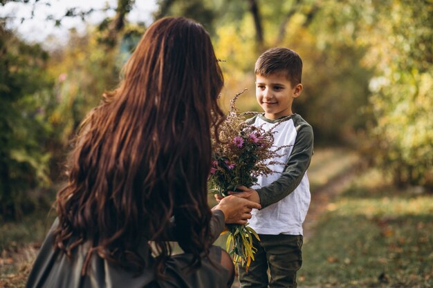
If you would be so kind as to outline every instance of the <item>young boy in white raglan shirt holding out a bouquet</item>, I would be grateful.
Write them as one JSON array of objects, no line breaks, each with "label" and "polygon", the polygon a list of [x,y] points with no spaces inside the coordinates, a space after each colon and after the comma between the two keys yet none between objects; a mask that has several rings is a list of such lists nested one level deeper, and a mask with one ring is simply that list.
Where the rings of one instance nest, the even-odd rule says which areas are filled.
[{"label": "young boy in white raglan shirt holding out a bouquet", "polygon": [[262,208],[253,209],[249,221],[260,237],[260,242],[254,239],[255,260],[248,272],[239,266],[239,280],[242,288],[297,287],[302,223],[311,198],[306,169],[313,155],[313,129],[292,112],[293,99],[302,92],[302,60],[288,48],[271,48],[257,59],[255,75],[257,102],[264,113],[250,119],[250,124],[270,129],[280,122],[274,128],[274,145],[286,147],[283,156],[274,159],[282,164],[269,166],[275,173],[259,177],[258,185],[250,189],[240,187]]}]

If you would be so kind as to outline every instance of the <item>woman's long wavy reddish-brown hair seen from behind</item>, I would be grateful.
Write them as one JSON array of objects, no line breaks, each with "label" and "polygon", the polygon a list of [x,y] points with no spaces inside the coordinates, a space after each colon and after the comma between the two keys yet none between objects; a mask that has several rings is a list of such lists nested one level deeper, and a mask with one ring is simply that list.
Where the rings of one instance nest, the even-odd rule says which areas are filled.
[{"label": "woman's long wavy reddish-brown hair seen from behind", "polygon": [[[57,195],[55,245],[129,269],[149,265],[138,250],[152,240],[161,276],[171,253],[167,226],[199,267],[210,247],[207,200],[213,127],[223,113],[223,76],[208,32],[183,17],[160,19],[143,35],[116,90],[82,123]],[[215,128],[216,130],[216,128]],[[141,248],[142,249],[142,248]]]}]

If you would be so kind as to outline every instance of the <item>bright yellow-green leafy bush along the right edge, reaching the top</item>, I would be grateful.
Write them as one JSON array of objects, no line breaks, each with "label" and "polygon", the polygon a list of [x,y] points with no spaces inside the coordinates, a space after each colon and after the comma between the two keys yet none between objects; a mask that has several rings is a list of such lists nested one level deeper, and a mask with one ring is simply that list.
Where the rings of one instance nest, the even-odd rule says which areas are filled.
[{"label": "bright yellow-green leafy bush along the right edge, reaching the top", "polygon": [[390,1],[370,8],[364,12],[374,19],[365,23],[369,33],[357,36],[369,46],[365,65],[376,70],[369,153],[400,186],[433,187],[433,3]]}]

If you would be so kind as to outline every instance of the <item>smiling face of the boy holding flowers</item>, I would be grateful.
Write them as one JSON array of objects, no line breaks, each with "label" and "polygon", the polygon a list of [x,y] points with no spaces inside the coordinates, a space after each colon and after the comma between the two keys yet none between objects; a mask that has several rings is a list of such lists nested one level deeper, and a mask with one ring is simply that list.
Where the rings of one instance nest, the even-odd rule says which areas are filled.
[{"label": "smiling face of the boy holding flowers", "polygon": [[292,86],[284,73],[256,75],[256,98],[268,119],[292,115],[293,99],[302,92],[302,84]]}]

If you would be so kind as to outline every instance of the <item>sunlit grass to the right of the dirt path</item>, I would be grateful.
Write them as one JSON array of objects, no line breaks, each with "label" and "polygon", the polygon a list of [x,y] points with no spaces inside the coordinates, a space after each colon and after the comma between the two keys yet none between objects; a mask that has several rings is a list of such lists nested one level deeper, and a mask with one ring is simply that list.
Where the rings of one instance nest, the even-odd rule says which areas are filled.
[{"label": "sunlit grass to the right of the dirt path", "polygon": [[300,287],[433,287],[433,195],[374,169],[327,206],[303,247]]}]

